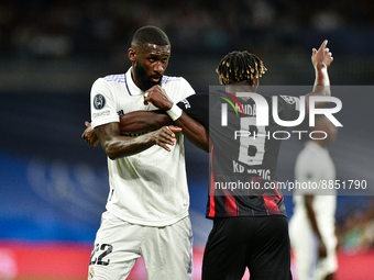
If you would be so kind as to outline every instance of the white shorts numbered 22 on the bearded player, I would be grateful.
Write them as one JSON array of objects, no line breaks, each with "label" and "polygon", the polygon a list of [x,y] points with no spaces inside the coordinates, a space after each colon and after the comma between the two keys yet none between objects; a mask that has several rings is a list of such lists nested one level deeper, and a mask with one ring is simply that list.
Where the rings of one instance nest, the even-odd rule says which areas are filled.
[{"label": "white shorts numbered 22 on the bearded player", "polygon": [[102,214],[89,264],[89,280],[124,280],[139,257],[150,280],[193,278],[193,232],[189,217],[168,226],[130,224]]}]

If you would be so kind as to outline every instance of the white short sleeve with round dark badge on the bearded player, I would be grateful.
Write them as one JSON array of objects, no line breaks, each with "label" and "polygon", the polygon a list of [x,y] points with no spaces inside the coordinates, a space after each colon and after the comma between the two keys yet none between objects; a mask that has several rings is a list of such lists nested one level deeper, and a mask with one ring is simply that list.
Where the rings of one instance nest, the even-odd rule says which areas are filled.
[{"label": "white short sleeve with round dark badge on the bearded player", "polygon": [[97,79],[91,88],[91,126],[92,128],[112,122],[120,122],[116,110],[116,100],[108,82]]}]

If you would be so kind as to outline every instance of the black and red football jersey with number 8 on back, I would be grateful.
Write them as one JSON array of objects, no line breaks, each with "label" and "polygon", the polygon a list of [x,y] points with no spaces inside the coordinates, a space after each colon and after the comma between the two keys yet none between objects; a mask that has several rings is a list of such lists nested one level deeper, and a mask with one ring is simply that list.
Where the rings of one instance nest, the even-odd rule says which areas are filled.
[{"label": "black and red football jersey with number 8 on back", "polygon": [[[195,94],[178,103],[209,131],[211,153],[206,213],[209,219],[286,215],[276,181],[285,127],[274,121],[272,97],[263,98],[268,107],[268,125],[264,126],[256,125],[257,107],[253,99],[243,100],[219,91]],[[278,96],[276,99],[280,120],[299,116],[298,98]]]}]

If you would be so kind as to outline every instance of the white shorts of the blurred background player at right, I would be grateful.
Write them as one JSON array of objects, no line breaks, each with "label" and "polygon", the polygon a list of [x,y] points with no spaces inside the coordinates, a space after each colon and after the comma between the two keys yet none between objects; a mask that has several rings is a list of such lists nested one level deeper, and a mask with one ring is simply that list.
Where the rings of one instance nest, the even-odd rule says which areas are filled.
[{"label": "white shorts of the blurred background player at right", "polygon": [[327,257],[318,259],[318,239],[307,217],[295,215],[289,221],[289,239],[294,253],[295,280],[319,280],[338,270],[334,229],[321,231]]}]

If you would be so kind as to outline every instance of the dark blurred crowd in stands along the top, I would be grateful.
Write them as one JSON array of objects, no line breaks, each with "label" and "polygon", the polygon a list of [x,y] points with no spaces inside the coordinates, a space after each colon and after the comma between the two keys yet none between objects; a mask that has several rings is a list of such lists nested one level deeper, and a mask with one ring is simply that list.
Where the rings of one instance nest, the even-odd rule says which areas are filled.
[{"label": "dark blurred crowd in stands along the top", "polygon": [[146,24],[165,30],[182,52],[310,48],[321,41],[312,36],[326,34],[339,42],[334,53],[369,53],[374,2],[1,0],[0,51],[25,57],[116,55]]}]

